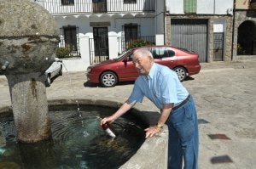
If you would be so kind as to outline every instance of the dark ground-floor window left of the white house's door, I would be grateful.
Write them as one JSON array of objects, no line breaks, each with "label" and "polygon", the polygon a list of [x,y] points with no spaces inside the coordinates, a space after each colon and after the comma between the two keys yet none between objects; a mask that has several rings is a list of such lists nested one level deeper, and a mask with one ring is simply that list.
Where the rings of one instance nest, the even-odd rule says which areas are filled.
[{"label": "dark ground-floor window left of the white house's door", "polygon": [[76,26],[67,26],[63,27],[64,31],[64,42],[65,48],[69,48],[70,51],[77,51],[77,27]]}]

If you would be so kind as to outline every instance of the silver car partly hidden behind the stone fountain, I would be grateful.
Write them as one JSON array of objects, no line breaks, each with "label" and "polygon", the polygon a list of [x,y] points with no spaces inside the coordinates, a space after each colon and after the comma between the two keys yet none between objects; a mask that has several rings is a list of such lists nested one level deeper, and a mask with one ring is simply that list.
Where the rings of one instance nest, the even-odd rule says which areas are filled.
[{"label": "silver car partly hidden behind the stone fountain", "polygon": [[53,82],[53,79],[57,76],[62,76],[62,60],[55,58],[52,65],[49,66],[48,70],[45,71],[46,81],[45,86],[49,87]]}]

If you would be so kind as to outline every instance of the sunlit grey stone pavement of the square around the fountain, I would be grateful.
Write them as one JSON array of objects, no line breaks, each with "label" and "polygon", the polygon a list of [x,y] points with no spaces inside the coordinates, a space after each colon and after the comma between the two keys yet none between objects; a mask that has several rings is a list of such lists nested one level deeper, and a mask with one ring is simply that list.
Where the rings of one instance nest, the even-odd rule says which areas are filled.
[{"label": "sunlit grey stone pavement of the square around the fountain", "polygon": [[[256,168],[256,59],[201,65],[198,75],[183,82],[198,110],[199,168]],[[47,97],[49,100],[108,99],[123,103],[133,87],[133,82],[109,88],[84,82],[84,72],[64,72],[47,87]],[[0,76],[0,93],[0,107],[10,105],[5,76]],[[157,110],[148,99],[142,104],[147,104],[148,110]]]}]

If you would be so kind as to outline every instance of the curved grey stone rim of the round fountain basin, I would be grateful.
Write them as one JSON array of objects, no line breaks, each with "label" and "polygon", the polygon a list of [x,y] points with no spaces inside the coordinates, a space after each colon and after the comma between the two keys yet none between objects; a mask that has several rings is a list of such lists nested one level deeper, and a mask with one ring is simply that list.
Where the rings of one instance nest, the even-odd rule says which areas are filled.
[{"label": "curved grey stone rim of the round fountain basin", "polygon": [[[105,99],[51,99],[48,100],[48,106],[55,105],[99,105],[110,108],[119,108],[122,103],[116,101],[109,101]],[[143,111],[143,106],[135,106],[131,109],[131,113],[140,116],[140,120],[148,124],[150,115]],[[11,112],[11,106],[0,106],[1,114]],[[155,118],[155,117],[153,117]],[[143,120],[145,119],[145,120]],[[150,121],[150,120],[149,120]],[[148,124],[149,125],[149,124]],[[162,131],[153,138],[145,139],[142,146],[137,150],[135,155],[131,156],[131,159],[126,161],[125,164],[119,167],[119,169],[133,169],[136,168],[167,168],[167,156],[168,156],[168,127],[163,127]]]}]

